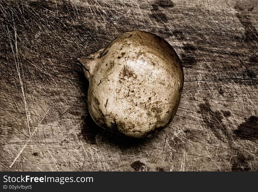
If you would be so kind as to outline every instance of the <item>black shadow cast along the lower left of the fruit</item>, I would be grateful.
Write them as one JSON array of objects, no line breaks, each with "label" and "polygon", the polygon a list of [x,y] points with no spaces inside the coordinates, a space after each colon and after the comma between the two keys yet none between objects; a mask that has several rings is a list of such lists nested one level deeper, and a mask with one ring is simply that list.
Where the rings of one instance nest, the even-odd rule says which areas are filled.
[{"label": "black shadow cast along the lower left of the fruit", "polygon": [[84,111],[82,114],[82,131],[81,131],[81,137],[86,141],[90,142],[92,145],[97,144],[97,139],[101,140],[101,142],[106,142],[108,144],[113,144],[118,146],[121,149],[130,148],[130,147],[138,147],[141,144],[144,144],[149,139],[142,138],[142,139],[136,139],[132,137],[127,137],[125,135],[119,135],[115,132],[112,132],[110,130],[104,129],[100,126],[98,126],[94,120],[91,118],[91,115],[89,114],[89,110],[87,108],[87,93],[89,89],[89,81],[86,79],[82,66],[79,64],[79,62],[76,62],[78,69],[76,70],[79,80],[83,83],[82,91],[85,93],[85,97],[82,98],[81,104],[85,105],[86,111]]}]

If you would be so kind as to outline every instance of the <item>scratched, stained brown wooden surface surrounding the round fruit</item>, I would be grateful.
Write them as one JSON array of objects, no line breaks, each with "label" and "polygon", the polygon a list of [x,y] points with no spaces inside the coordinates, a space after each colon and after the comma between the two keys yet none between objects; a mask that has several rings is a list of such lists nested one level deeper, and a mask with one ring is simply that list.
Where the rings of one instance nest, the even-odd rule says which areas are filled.
[{"label": "scratched, stained brown wooden surface surrounding the round fruit", "polygon": [[[258,171],[258,1],[1,1],[1,171]],[[128,30],[166,39],[185,83],[172,123],[98,128],[75,59]]]}]

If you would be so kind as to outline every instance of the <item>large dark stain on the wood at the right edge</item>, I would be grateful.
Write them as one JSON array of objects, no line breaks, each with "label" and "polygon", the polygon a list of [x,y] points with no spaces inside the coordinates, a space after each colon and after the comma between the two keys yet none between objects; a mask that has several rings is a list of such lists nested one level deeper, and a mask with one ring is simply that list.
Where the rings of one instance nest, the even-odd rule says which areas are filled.
[{"label": "large dark stain on the wood at the right edge", "polygon": [[244,140],[258,139],[258,117],[251,116],[244,123],[241,123],[237,130],[234,130],[236,137]]}]

